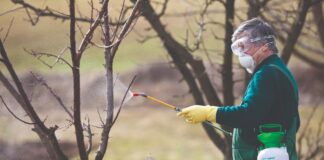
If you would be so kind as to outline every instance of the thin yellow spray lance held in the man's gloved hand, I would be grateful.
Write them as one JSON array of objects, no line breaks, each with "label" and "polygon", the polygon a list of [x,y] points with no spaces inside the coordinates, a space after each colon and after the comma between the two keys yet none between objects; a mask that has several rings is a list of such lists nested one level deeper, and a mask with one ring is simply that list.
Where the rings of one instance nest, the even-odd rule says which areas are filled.
[{"label": "thin yellow spray lance held in the man's gloved hand", "polygon": [[[141,96],[141,97],[144,97],[144,98],[149,99],[149,100],[151,100],[151,101],[154,101],[154,102],[156,102],[156,103],[159,103],[159,104],[161,104],[161,105],[164,106],[164,107],[168,107],[168,108],[170,108],[170,109],[173,109],[173,110],[176,111],[176,112],[181,112],[181,109],[180,109],[180,108],[178,108],[178,107],[176,107],[176,106],[174,106],[174,105],[168,104],[168,103],[166,103],[166,102],[164,102],[164,101],[162,101],[162,100],[160,100],[160,99],[157,99],[157,98],[155,98],[155,97],[152,97],[152,96],[146,95],[146,94],[144,94],[144,93],[132,93],[132,94],[133,94],[134,97]],[[223,133],[225,133],[225,134],[227,134],[227,135],[232,136],[232,133],[231,133],[231,132],[225,131],[224,129],[222,129],[222,128],[216,126],[215,124],[213,124],[213,123],[211,123],[211,122],[209,122],[209,121],[204,121],[203,123],[204,123],[204,124],[207,124],[207,125],[209,125],[209,126],[211,126],[211,127],[213,127],[213,128],[215,128],[215,129],[217,129],[217,130],[219,130],[219,131],[221,131],[221,132],[223,132]]]}]

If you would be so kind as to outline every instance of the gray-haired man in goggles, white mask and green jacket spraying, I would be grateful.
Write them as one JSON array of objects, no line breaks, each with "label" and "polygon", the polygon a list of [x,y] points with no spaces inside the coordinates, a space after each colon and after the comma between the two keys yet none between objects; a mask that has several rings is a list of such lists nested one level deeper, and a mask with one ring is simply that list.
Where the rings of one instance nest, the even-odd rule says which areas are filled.
[{"label": "gray-haired man in goggles, white mask and green jacket spraying", "polygon": [[252,160],[258,154],[260,125],[275,123],[285,129],[284,143],[289,159],[297,159],[296,132],[299,128],[298,88],[278,57],[275,33],[259,18],[242,23],[232,36],[232,51],[252,74],[238,106],[199,106],[184,108],[178,116],[189,123],[216,122],[234,128],[233,159]]}]

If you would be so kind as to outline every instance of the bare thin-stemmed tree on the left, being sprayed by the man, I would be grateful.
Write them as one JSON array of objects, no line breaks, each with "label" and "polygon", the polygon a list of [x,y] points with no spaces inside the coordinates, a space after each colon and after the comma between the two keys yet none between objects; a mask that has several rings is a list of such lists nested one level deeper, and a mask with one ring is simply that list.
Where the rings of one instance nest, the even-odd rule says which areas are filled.
[{"label": "bare thin-stemmed tree on the left, being sprayed by the man", "polygon": [[[75,0],[69,1],[69,14],[63,14],[54,12],[53,10],[46,7],[45,9],[39,9],[34,7],[32,4],[29,4],[23,0],[12,0],[13,3],[21,5],[23,9],[26,10],[26,13],[28,17],[30,18],[30,22],[32,25],[36,25],[38,22],[38,19],[43,16],[49,16],[53,18],[59,18],[62,20],[69,20],[70,21],[70,55],[71,55],[71,61],[70,63],[68,60],[65,60],[61,57],[61,54],[64,53],[65,50],[62,51],[62,53],[57,56],[50,53],[43,53],[43,52],[36,52],[36,51],[28,51],[30,54],[34,55],[35,57],[38,57],[39,60],[42,61],[42,56],[47,57],[54,57],[56,58],[56,62],[53,65],[46,64],[45,61],[42,61],[44,64],[46,64],[49,67],[54,67],[54,65],[58,61],[63,61],[65,64],[67,64],[71,70],[72,70],[72,77],[73,77],[73,114],[69,112],[69,110],[66,108],[66,106],[63,104],[61,99],[57,94],[55,94],[51,88],[44,82],[42,79],[37,78],[37,80],[42,81],[42,84],[48,88],[51,92],[51,94],[56,98],[56,100],[59,101],[60,105],[64,108],[64,110],[68,113],[68,115],[72,118],[72,123],[75,128],[75,138],[78,146],[79,156],[81,160],[87,160],[89,153],[91,152],[92,148],[92,132],[91,132],[91,126],[90,126],[90,119],[87,118],[87,122],[82,123],[81,120],[81,86],[80,86],[80,61],[82,58],[83,53],[88,48],[89,44],[91,45],[97,45],[94,42],[92,42],[92,37],[98,26],[101,24],[103,25],[103,44],[102,46],[99,45],[99,47],[102,47],[104,49],[105,54],[105,61],[106,61],[106,79],[107,79],[107,110],[106,110],[106,121],[102,124],[102,134],[100,136],[101,143],[97,151],[96,160],[103,159],[107,146],[108,146],[108,138],[109,133],[114,125],[115,121],[118,118],[118,115],[120,113],[121,106],[119,107],[118,113],[114,115],[114,96],[113,96],[113,62],[114,62],[114,56],[117,53],[118,47],[121,44],[121,42],[124,40],[124,38],[127,36],[127,34],[132,30],[133,26],[135,25],[137,18],[140,15],[140,7],[142,4],[142,0],[137,0],[135,5],[132,7],[132,11],[129,17],[124,19],[124,15],[126,11],[124,10],[124,3],[122,6],[122,10],[120,11],[120,17],[118,19],[117,24],[112,24],[109,22],[109,12],[108,12],[108,2],[109,0],[102,1],[101,9],[98,10],[97,17],[94,19],[91,17],[90,19],[85,17],[79,17],[76,18],[75,16]],[[91,1],[91,3],[93,3]],[[36,18],[32,18],[31,14],[28,10],[32,10],[36,14]],[[95,8],[91,5],[91,10],[95,10]],[[88,31],[83,35],[83,39],[81,40],[79,47],[77,48],[76,43],[76,27],[77,21],[81,22],[87,22],[90,23],[90,27]],[[12,24],[12,22],[11,22]],[[10,25],[11,26],[11,25]],[[112,27],[114,26],[114,27]],[[110,31],[113,31],[112,34]],[[8,31],[9,32],[9,31]],[[83,34],[83,33],[81,33]],[[8,35],[8,34],[7,34]],[[4,40],[7,36],[5,36]],[[98,46],[98,45],[97,45]],[[5,51],[5,48],[3,46],[2,41],[0,41],[0,54],[1,54],[1,61],[6,69],[9,71],[11,78],[14,81],[14,85],[10,83],[8,78],[5,74],[3,74],[2,69],[0,70],[0,80],[3,83],[3,85],[7,88],[7,90],[10,92],[10,94],[16,99],[16,101],[20,104],[20,106],[24,109],[24,111],[27,113],[28,117],[31,119],[32,122],[26,122],[20,118],[18,118],[14,112],[12,112],[8,107],[8,111],[13,114],[18,120],[33,125],[33,130],[38,134],[40,137],[42,143],[47,149],[47,152],[49,154],[50,159],[59,159],[64,160],[68,159],[68,157],[62,152],[60,145],[57,141],[57,138],[55,136],[55,131],[57,130],[58,126],[53,127],[46,127],[44,124],[44,121],[40,119],[38,113],[34,110],[34,106],[31,104],[30,100],[27,97],[27,94],[20,82],[20,79],[18,78],[8,56],[7,52]],[[133,82],[133,81],[132,81]],[[131,83],[132,84],[132,83]],[[126,93],[125,93],[126,94]],[[1,97],[1,100],[5,106],[6,103],[4,99]],[[85,147],[85,140],[84,140],[84,131],[87,133],[88,137],[88,147]]]}]

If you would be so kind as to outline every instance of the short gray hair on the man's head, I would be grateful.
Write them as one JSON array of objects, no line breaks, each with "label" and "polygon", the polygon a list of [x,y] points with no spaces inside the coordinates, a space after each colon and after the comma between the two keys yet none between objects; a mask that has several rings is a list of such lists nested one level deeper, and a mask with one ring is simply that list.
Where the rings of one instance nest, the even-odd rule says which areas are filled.
[{"label": "short gray hair on the man's head", "polygon": [[243,22],[233,33],[232,42],[237,40],[238,36],[245,31],[248,33],[251,42],[255,45],[268,43],[269,49],[273,53],[278,53],[278,48],[276,47],[275,42],[276,34],[267,22],[264,22],[260,18],[253,18]]}]

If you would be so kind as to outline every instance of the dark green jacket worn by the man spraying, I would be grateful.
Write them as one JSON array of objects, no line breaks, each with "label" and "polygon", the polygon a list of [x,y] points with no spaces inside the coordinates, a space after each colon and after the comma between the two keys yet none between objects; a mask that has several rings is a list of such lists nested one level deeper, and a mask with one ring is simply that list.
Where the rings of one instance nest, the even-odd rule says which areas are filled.
[{"label": "dark green jacket worn by the man spraying", "polygon": [[234,160],[256,159],[260,145],[256,128],[267,123],[279,123],[286,128],[285,143],[290,160],[297,159],[295,141],[300,124],[298,87],[283,61],[277,55],[265,59],[255,69],[242,103],[220,107],[216,121],[234,128]]}]

